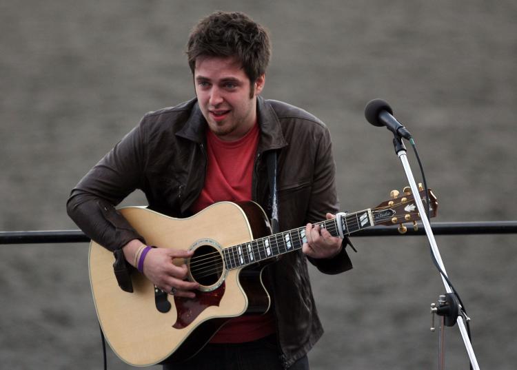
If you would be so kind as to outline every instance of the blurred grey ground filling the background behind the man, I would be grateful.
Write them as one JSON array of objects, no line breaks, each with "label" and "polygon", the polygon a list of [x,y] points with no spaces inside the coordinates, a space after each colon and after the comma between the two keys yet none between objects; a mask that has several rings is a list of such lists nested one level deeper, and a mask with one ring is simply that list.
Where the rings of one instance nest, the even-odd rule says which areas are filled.
[{"label": "blurred grey ground filling the background behind the man", "polygon": [[[330,127],[343,209],[407,182],[383,98],[416,138],[436,221],[515,220],[516,1],[0,1],[0,230],[77,229],[70,189],[148,111],[193,95],[187,34],[214,10],[271,32],[263,96]],[[408,152],[417,179],[413,152]],[[125,204],[142,204],[141,194]],[[514,235],[437,236],[481,369],[515,369]],[[436,369],[445,289],[425,237],[355,238],[355,268],[311,269],[325,336],[312,369]],[[0,368],[100,369],[88,244],[0,246]],[[111,352],[109,369],[129,369]],[[457,327],[447,369],[467,369]]]}]

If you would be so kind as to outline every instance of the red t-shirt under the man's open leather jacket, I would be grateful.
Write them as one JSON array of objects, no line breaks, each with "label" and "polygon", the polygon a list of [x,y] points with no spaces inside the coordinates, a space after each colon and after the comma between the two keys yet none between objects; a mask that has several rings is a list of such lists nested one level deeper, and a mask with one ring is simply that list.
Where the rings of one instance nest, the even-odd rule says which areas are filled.
[{"label": "red t-shirt under the man's open leather jacket", "polygon": [[[222,141],[207,130],[207,173],[199,198],[192,205],[199,212],[220,201],[250,201],[259,125],[236,141]],[[257,340],[274,333],[271,312],[230,319],[210,340],[212,343],[241,343]]]}]

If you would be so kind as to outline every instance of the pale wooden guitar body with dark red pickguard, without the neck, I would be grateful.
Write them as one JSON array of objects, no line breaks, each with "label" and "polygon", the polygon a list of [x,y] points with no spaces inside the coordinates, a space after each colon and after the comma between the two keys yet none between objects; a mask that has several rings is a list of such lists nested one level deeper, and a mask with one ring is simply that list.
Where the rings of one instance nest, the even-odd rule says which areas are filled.
[{"label": "pale wooden guitar body with dark red pickguard, without the neck", "polygon": [[[221,256],[227,247],[270,234],[267,217],[256,203],[216,203],[183,219],[143,207],[119,211],[149,245],[194,249],[189,275],[201,284],[194,299],[174,297],[155,289],[134,270],[134,291],[125,292],[113,273],[112,252],[92,241],[89,268],[95,309],[106,340],[123,361],[149,366],[185,360],[230,318],[269,309],[270,296],[261,280],[263,265],[226,269]],[[215,258],[218,267],[204,274],[194,268],[196,258]],[[174,260],[177,265],[184,262]]]}]

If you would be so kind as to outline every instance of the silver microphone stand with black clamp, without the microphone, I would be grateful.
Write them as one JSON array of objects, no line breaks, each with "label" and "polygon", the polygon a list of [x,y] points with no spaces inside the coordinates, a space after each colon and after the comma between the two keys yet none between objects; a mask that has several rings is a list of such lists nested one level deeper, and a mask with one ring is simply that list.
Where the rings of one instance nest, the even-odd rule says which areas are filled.
[{"label": "silver microphone stand with black clamp, without the microphone", "polygon": [[[440,251],[438,250],[438,246],[436,245],[436,240],[434,239],[434,234],[431,229],[431,225],[429,224],[429,220],[427,219],[427,212],[425,211],[424,205],[422,203],[422,199],[420,198],[420,192],[418,191],[418,187],[416,186],[415,179],[413,177],[413,173],[411,170],[411,167],[409,167],[409,162],[407,161],[407,155],[406,155],[406,148],[404,146],[404,143],[402,142],[401,136],[398,136],[397,134],[394,134],[395,138],[393,139],[395,152],[398,156],[398,158],[401,159],[401,163],[404,167],[404,171],[406,173],[407,180],[409,181],[409,186],[411,187],[414,200],[416,202],[416,207],[418,207],[418,212],[420,212],[420,218],[422,220],[423,226],[425,228],[425,234],[427,234],[427,239],[429,240],[429,245],[431,245],[432,252],[434,254],[434,258],[436,258],[436,261],[440,268],[443,271],[443,274],[447,276],[447,272],[445,271],[445,267],[443,265],[443,260],[440,257]],[[429,201],[429,200],[427,200]],[[463,322],[463,316],[462,314],[459,314],[460,309],[458,309],[459,305],[457,304],[457,298],[454,295],[451,287],[449,286],[449,283],[447,280],[445,280],[445,276],[440,275],[443,281],[443,285],[445,286],[445,290],[447,291],[447,294],[445,296],[440,296],[439,305],[440,307],[446,307],[445,310],[440,310],[440,307],[432,306],[432,312],[436,313],[440,316],[447,316],[449,315],[449,325],[454,325],[455,322],[458,323],[458,327],[460,329],[461,336],[463,338],[463,343],[465,344],[465,348],[467,349],[467,353],[469,355],[470,364],[472,365],[472,369],[479,370],[478,361],[476,360],[476,355],[474,354],[474,349],[472,349],[472,343],[469,340],[469,336],[467,334],[467,329],[465,328],[465,322]],[[448,305],[449,303],[450,305]],[[433,304],[434,305],[434,304]],[[456,306],[455,306],[456,305]],[[452,307],[452,312],[449,312],[449,307]],[[460,308],[460,307],[459,307]],[[443,312],[446,311],[446,312]],[[452,318],[450,318],[450,315],[453,315]],[[434,317],[434,316],[433,316]],[[444,324],[447,321],[441,320]],[[457,320],[458,319],[458,320]],[[468,317],[465,317],[465,320],[470,320]],[[439,354],[439,360],[438,360],[438,369],[442,370],[444,366],[444,351],[443,351],[443,345],[444,345],[444,333],[445,327],[441,325],[440,327],[440,339],[439,339],[439,345],[438,345],[438,354]]]}]

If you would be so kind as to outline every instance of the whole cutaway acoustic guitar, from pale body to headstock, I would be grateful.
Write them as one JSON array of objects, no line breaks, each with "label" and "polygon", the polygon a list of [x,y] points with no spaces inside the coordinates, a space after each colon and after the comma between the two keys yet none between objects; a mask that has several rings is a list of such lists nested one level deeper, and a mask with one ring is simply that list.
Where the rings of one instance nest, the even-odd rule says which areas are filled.
[{"label": "whole cutaway acoustic guitar, from pale body to headstock", "polygon": [[[436,216],[436,196],[430,190],[420,196],[424,203],[429,201],[431,216]],[[306,241],[305,227],[271,235],[265,212],[253,202],[216,203],[183,219],[145,207],[119,212],[148,244],[193,249],[191,258],[174,263],[186,263],[188,278],[201,285],[196,298],[170,296],[134,269],[134,291],[123,291],[113,273],[112,252],[92,241],[89,269],[97,316],[114,353],[133,366],[190,358],[230,318],[267,312],[270,296],[261,279],[263,268],[301,249]],[[319,224],[338,236],[419,219],[414,197],[405,193],[372,209]]]}]

